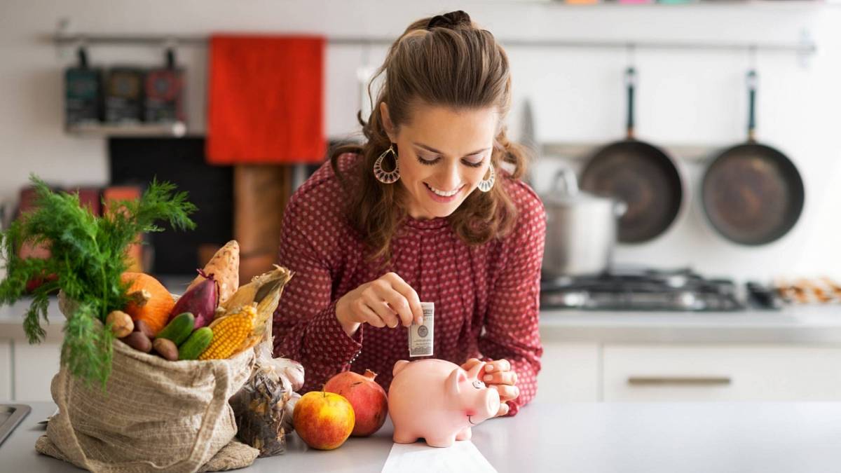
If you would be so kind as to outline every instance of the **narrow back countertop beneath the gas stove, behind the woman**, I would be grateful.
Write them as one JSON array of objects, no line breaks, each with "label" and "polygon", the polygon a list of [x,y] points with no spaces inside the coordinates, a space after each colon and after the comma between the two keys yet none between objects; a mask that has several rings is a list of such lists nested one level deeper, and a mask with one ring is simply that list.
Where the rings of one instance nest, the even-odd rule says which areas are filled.
[{"label": "narrow back countertop beneath the gas stove, behind the woman", "polygon": [[[29,301],[0,307],[0,339],[25,341]],[[61,342],[64,316],[50,300],[47,341]],[[782,311],[540,312],[547,342],[600,343],[826,343],[841,344],[841,306],[790,306]]]}]

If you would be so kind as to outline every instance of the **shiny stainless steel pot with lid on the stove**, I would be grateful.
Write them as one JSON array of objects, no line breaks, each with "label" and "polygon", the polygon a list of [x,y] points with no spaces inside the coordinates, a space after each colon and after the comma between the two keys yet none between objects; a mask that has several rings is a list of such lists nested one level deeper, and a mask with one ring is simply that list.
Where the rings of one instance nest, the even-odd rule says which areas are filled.
[{"label": "shiny stainless steel pot with lid on the stove", "polygon": [[542,200],[547,215],[542,278],[599,274],[610,268],[618,221],[627,205],[579,192],[568,167],[558,171]]}]

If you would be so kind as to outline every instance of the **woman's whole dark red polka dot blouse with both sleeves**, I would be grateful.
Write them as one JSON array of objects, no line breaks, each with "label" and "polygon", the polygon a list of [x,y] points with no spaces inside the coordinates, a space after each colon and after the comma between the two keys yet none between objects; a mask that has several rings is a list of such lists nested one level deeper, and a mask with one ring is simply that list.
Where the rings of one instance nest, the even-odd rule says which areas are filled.
[{"label": "woman's whole dark red polka dot blouse with both sleeves", "polygon": [[[340,157],[339,168],[348,178],[346,170],[357,160],[352,153]],[[336,300],[394,271],[421,301],[435,303],[432,358],[455,364],[470,358],[508,359],[520,388],[520,396],[509,401],[509,415],[532,400],[542,355],[537,312],[546,214],[525,183],[498,178],[495,185],[504,185],[517,207],[514,231],[468,246],[447,218],[407,217],[392,240],[392,263],[385,270],[366,261],[364,243],[346,221],[346,198],[329,163],[294,193],[283,216],[278,258],[294,277],[274,314],[274,352],[304,365],[304,392],[320,389],[347,369],[371,369],[389,389],[394,363],[410,359],[408,329],[362,324],[349,337],[336,319]]]}]

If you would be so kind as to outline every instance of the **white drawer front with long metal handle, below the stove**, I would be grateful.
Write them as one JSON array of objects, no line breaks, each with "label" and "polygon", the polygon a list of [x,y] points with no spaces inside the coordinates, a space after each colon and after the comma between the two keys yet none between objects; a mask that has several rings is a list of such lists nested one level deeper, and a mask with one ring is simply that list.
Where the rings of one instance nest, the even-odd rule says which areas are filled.
[{"label": "white drawer front with long metal handle, below the stove", "polygon": [[841,401],[841,348],[606,345],[604,401]]}]

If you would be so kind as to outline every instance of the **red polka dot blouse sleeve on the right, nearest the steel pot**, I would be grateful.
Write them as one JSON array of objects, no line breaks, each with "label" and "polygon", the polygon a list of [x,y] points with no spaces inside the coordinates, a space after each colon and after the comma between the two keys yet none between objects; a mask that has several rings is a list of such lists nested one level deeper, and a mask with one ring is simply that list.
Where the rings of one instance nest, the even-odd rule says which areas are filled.
[{"label": "red polka dot blouse sleeve on the right, nearest the steel pot", "polygon": [[516,372],[520,396],[508,401],[509,416],[537,394],[543,348],[538,331],[540,268],[546,238],[546,213],[529,193],[514,231],[502,246],[507,258],[489,296],[479,352],[485,361],[507,359]]}]

